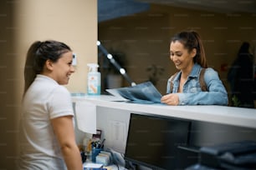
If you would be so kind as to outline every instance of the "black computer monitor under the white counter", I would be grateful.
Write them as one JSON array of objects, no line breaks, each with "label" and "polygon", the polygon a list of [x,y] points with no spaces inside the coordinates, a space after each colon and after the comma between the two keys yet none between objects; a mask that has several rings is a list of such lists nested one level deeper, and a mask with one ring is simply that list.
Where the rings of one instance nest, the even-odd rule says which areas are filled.
[{"label": "black computer monitor under the white counter", "polygon": [[191,122],[131,113],[125,160],[154,169],[177,168],[179,146],[187,146]]}]

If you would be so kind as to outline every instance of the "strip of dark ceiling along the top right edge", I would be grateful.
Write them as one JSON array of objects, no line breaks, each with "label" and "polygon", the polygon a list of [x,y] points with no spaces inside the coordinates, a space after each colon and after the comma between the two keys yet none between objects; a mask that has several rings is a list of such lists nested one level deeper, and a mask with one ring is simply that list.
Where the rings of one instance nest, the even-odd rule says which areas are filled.
[{"label": "strip of dark ceiling along the top right edge", "polygon": [[256,0],[98,0],[98,22],[147,11],[151,3],[216,13],[256,14]]}]

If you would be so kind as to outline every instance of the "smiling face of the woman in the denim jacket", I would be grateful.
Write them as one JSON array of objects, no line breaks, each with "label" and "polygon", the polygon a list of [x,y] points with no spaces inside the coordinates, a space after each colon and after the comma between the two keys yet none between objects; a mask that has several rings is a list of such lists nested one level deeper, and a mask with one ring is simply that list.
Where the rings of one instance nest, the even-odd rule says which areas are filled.
[{"label": "smiling face of the woman in the denim jacket", "polygon": [[179,70],[190,69],[193,66],[193,57],[196,56],[196,52],[196,49],[188,52],[187,48],[179,41],[170,44],[170,58]]}]

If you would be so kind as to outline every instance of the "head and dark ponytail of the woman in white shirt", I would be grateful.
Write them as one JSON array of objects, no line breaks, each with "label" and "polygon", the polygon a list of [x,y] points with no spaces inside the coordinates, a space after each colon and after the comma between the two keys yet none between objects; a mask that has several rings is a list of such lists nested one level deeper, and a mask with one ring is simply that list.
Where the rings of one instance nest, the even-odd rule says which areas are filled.
[{"label": "head and dark ponytail of the woman in white shirt", "polygon": [[[33,42],[28,49],[27,60],[24,69],[25,89],[33,82],[38,74],[43,74],[52,77],[56,82],[60,81],[59,76],[66,73],[70,75],[74,72],[72,67],[72,51],[69,46],[63,42],[45,41]],[[61,81],[59,84],[67,84],[66,81]]]}]

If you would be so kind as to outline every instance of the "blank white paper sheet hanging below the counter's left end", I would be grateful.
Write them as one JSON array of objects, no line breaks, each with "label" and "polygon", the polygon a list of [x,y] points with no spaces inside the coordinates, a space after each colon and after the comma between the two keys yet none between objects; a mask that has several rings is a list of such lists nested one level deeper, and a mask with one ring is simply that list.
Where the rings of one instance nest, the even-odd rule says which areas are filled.
[{"label": "blank white paper sheet hanging below the counter's left end", "polygon": [[92,102],[75,102],[77,126],[84,133],[96,134],[96,105]]}]

